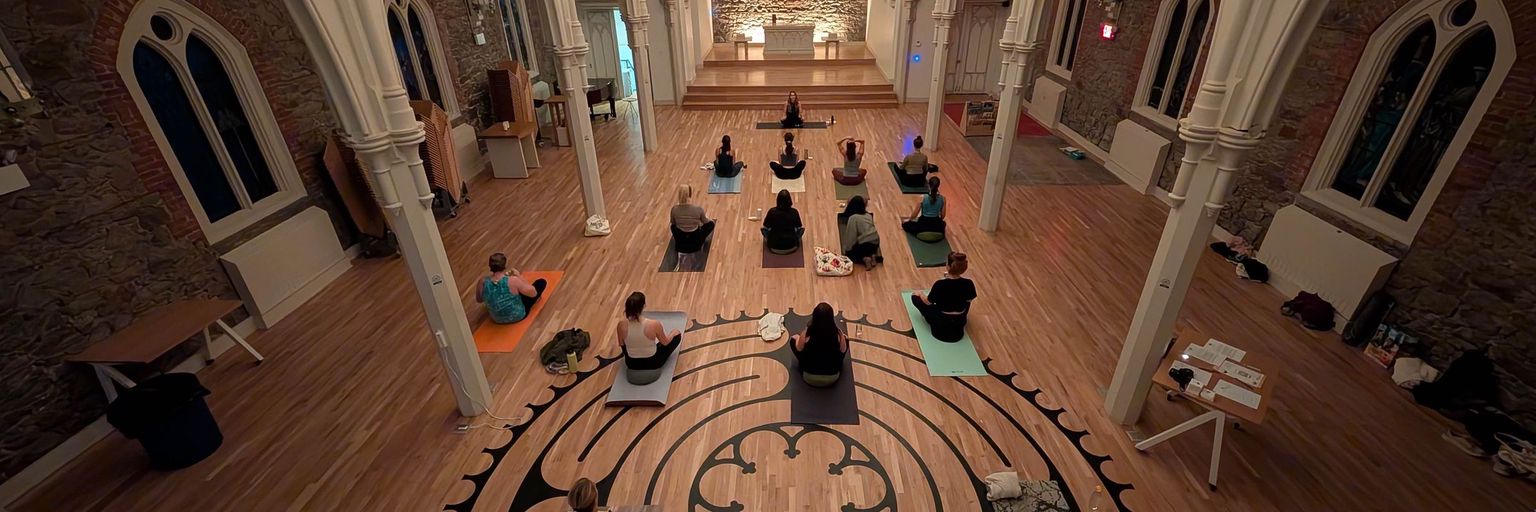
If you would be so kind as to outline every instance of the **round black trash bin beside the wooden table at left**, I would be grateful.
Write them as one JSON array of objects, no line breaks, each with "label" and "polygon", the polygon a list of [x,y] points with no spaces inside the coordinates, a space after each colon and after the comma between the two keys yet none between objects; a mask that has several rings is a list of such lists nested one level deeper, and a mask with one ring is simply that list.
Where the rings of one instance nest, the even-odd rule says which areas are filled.
[{"label": "round black trash bin beside the wooden table at left", "polygon": [[164,374],[123,391],[108,406],[106,421],[138,440],[157,469],[181,469],[214,455],[224,443],[207,387],[192,374]]}]

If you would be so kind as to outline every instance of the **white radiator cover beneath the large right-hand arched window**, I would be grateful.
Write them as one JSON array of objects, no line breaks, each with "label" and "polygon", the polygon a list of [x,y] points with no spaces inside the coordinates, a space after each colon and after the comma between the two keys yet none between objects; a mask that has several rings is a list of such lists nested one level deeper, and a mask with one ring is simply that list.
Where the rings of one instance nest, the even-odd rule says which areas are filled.
[{"label": "white radiator cover beneath the large right-hand arched window", "polygon": [[[1296,204],[1281,208],[1269,224],[1260,261],[1270,284],[1286,297],[1298,291],[1321,295],[1341,320],[1350,320],[1372,292],[1381,289],[1398,258],[1333,228]],[[1338,329],[1344,321],[1338,323]]]}]

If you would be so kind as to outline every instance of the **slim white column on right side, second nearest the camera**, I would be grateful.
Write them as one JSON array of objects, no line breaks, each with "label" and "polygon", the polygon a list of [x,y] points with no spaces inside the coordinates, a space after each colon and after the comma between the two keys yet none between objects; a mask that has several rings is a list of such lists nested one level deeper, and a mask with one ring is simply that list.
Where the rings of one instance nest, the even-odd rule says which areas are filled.
[{"label": "slim white column on right side, second nearest the camera", "polygon": [[1041,46],[1041,23],[1044,23],[1044,0],[1014,2],[1012,11],[1008,14],[1008,25],[1003,28],[1003,38],[998,42],[1003,49],[1003,89],[997,105],[997,125],[992,129],[992,154],[986,160],[978,223],[986,232],[995,232],[1003,215],[1008,165],[1014,154],[1014,138],[1018,134],[1018,108],[1023,103],[1025,80],[1029,78],[1025,71],[1029,69],[1029,58]]}]

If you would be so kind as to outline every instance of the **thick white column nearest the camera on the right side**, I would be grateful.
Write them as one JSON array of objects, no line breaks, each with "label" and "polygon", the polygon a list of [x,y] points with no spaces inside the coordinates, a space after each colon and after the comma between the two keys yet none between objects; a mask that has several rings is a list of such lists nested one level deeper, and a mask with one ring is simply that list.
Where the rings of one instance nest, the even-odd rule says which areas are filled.
[{"label": "thick white column nearest the camera on the right side", "polygon": [[1132,424],[1141,415],[1152,372],[1236,183],[1233,177],[1264,137],[1299,48],[1324,6],[1326,2],[1316,0],[1226,0],[1217,11],[1200,92],[1180,120],[1184,155],[1169,191],[1172,209],[1104,395],[1106,412],[1121,424]]}]

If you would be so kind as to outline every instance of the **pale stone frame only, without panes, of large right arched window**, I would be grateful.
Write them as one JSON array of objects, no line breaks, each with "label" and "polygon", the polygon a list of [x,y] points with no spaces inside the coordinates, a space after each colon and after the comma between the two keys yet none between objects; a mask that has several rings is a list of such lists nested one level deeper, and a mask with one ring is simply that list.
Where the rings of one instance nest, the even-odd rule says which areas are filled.
[{"label": "pale stone frame only, without panes, of large right arched window", "polygon": [[[1381,28],[1372,34],[1370,42],[1366,45],[1366,51],[1361,54],[1362,57],[1355,68],[1355,74],[1350,77],[1349,88],[1339,101],[1339,108],[1333,114],[1333,121],[1329,125],[1327,135],[1322,138],[1318,155],[1313,158],[1312,168],[1307,171],[1307,180],[1301,189],[1304,197],[1322,204],[1344,218],[1349,218],[1350,221],[1359,223],[1373,232],[1385,235],[1402,244],[1413,243],[1419,228],[1424,226],[1424,220],[1428,218],[1428,212],[1435,206],[1435,200],[1445,188],[1445,181],[1448,181],[1452,171],[1456,168],[1456,163],[1461,160],[1462,152],[1471,141],[1473,134],[1482,123],[1482,115],[1488,111],[1488,105],[1493,103],[1499,88],[1504,85],[1504,78],[1514,66],[1514,35],[1502,2],[1473,0],[1478,3],[1478,11],[1471,22],[1467,22],[1462,26],[1450,26],[1450,11],[1462,2],[1464,0],[1413,2],[1393,12],[1392,17],[1382,22]],[[1415,123],[1412,120],[1418,118],[1418,114],[1422,111],[1427,97],[1430,95],[1430,89],[1435,86],[1435,81],[1438,81],[1436,78],[1439,78],[1445,62],[1462,42],[1476,34],[1481,28],[1487,26],[1491,29],[1499,51],[1495,55],[1493,68],[1488,71],[1487,80],[1482,83],[1482,89],[1478,91],[1478,98],[1473,100],[1471,108],[1467,111],[1467,117],[1462,118],[1461,126],[1456,129],[1456,135],[1452,138],[1450,146],[1447,146],[1445,154],[1441,155],[1439,165],[1435,168],[1435,175],[1430,178],[1428,186],[1425,186],[1418,204],[1413,206],[1413,214],[1409,215],[1407,220],[1402,220],[1373,206],[1376,195],[1382,188],[1382,183],[1387,181],[1390,172],[1378,172],[1373,175],[1370,186],[1366,194],[1361,194],[1361,198],[1353,198],[1344,192],[1335,191],[1332,183],[1333,177],[1339,171],[1339,166],[1342,165],[1342,160],[1349,154],[1355,138],[1355,129],[1359,126],[1361,118],[1366,115],[1366,108],[1375,97],[1375,86],[1381,81],[1382,74],[1387,71],[1387,65],[1398,51],[1398,45],[1425,20],[1430,20],[1435,26],[1435,57],[1430,60],[1430,66],[1427,66],[1424,78],[1419,81],[1413,98],[1409,101],[1409,109],[1405,112],[1412,115],[1404,115],[1405,121],[1401,123],[1393,132],[1392,141],[1389,143],[1381,163],[1378,163],[1378,169],[1390,169],[1392,163],[1401,157],[1402,138],[1407,132],[1413,131]]]}]

